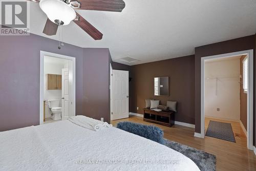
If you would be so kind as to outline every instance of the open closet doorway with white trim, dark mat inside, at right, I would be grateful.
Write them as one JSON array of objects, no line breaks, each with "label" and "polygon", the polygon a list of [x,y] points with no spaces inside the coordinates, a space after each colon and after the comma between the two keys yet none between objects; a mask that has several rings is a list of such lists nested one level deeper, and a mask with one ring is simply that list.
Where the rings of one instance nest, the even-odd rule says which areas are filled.
[{"label": "open closet doorway with white trim, dark mat inside, at right", "polygon": [[252,149],[252,50],[201,59],[201,135]]}]

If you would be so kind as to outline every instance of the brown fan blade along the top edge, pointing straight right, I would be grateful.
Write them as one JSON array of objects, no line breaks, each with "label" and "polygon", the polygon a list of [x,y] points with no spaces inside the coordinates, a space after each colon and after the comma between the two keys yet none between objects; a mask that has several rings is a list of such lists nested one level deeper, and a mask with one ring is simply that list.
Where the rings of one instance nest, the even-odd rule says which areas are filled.
[{"label": "brown fan blade along the top edge, pointing straight right", "polygon": [[121,12],[125,3],[122,0],[77,0],[82,10],[114,11]]}]

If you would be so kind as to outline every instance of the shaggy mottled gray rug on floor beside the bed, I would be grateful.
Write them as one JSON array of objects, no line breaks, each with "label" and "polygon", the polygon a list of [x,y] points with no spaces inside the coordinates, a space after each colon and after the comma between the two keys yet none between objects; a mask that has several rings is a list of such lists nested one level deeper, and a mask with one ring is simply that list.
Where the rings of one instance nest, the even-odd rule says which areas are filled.
[{"label": "shaggy mottled gray rug on floor beside the bed", "polygon": [[216,170],[216,156],[199,151],[196,148],[189,147],[178,142],[165,140],[165,145],[180,152],[184,156],[193,160],[201,171],[215,171]]}]

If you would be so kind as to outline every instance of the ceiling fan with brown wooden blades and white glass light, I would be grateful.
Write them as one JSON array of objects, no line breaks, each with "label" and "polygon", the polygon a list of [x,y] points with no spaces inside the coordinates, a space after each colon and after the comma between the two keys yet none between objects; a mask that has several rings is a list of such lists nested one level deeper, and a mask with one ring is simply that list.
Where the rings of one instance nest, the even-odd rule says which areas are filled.
[{"label": "ceiling fan with brown wooden blades and white glass light", "polygon": [[27,0],[39,3],[47,15],[43,33],[55,35],[58,26],[68,25],[73,20],[81,29],[95,40],[102,39],[103,34],[93,27],[86,19],[75,12],[78,10],[98,10],[121,12],[125,7],[122,0]]}]

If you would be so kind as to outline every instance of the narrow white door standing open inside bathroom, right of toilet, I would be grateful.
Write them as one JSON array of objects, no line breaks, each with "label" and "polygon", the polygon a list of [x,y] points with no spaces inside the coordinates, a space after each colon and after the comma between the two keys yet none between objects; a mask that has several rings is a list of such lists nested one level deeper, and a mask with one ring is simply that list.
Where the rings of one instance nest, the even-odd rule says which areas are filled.
[{"label": "narrow white door standing open inside bathroom, right of toilet", "polygon": [[62,120],[67,119],[69,117],[69,69],[62,69]]}]

